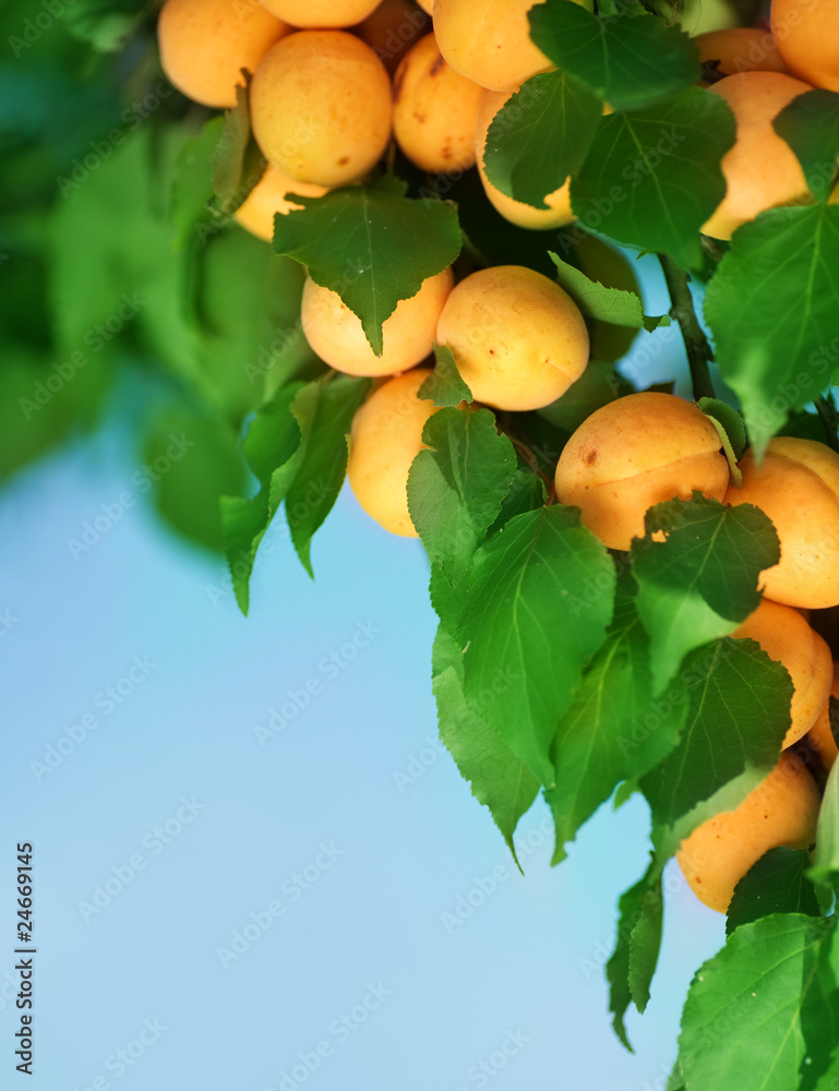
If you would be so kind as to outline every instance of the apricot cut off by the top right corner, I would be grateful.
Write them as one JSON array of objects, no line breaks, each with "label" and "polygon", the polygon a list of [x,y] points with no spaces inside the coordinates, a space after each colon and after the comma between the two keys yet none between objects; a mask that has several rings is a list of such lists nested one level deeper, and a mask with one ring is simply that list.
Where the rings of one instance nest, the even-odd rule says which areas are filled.
[{"label": "apricot cut off by the top right corner", "polygon": [[770,23],[793,75],[839,91],[839,0],[772,0]]}]

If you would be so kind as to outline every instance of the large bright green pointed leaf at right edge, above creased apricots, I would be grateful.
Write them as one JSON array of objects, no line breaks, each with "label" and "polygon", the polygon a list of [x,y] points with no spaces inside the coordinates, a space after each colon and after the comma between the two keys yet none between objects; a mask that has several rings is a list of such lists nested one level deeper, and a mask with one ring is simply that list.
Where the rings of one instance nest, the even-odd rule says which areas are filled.
[{"label": "large bright green pointed leaf at right edge, above creased apricots", "polygon": [[837,374],[838,312],[839,206],[772,208],[734,231],[705,317],[758,457],[790,411]]}]

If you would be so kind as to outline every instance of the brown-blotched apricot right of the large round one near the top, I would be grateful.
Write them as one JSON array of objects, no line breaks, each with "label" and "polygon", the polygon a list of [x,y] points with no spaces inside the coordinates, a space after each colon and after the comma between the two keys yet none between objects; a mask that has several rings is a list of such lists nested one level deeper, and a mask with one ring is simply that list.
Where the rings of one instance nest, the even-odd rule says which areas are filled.
[{"label": "brown-blotched apricot right of the large round one near the top", "polygon": [[443,60],[433,34],[411,48],[393,84],[393,131],[421,170],[451,173],[475,164],[475,119],[483,88]]}]

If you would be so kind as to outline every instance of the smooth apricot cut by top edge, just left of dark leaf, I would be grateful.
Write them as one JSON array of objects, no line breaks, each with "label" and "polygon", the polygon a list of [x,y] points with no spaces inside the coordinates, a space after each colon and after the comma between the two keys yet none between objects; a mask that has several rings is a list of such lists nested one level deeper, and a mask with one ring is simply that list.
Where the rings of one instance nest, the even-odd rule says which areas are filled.
[{"label": "smooth apricot cut by top edge, just left of dark leaf", "polygon": [[490,91],[553,68],[530,40],[532,0],[435,0],[434,34],[448,64]]}]

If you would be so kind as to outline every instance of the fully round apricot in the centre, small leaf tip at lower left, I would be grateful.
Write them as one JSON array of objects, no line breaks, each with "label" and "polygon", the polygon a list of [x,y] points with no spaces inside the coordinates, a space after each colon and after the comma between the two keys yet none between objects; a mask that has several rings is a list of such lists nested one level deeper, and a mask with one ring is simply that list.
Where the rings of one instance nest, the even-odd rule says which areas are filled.
[{"label": "fully round apricot in the centre, small leaf tip at lower left", "polygon": [[539,409],[579,379],[588,332],[574,300],[522,265],[479,269],[446,300],[436,340],[454,353],[477,401]]}]

